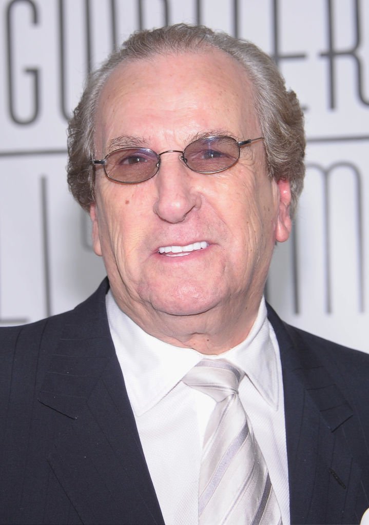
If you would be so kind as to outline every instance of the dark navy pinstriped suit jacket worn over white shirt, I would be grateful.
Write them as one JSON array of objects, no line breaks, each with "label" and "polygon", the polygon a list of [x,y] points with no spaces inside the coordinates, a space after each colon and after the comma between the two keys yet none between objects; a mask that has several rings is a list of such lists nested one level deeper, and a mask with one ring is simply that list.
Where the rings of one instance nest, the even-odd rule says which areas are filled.
[{"label": "dark navy pinstriped suit jacket worn over white shirt", "polygon": [[[2,524],[163,523],[107,288],[71,312],[0,331]],[[269,318],[281,350],[291,522],[357,523],[369,507],[369,355],[272,310]]]}]

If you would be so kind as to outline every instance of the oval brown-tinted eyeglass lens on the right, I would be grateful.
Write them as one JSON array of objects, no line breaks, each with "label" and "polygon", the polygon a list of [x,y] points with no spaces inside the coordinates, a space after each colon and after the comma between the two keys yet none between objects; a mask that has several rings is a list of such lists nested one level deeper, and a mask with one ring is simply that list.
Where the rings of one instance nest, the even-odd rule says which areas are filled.
[{"label": "oval brown-tinted eyeglass lens on the right", "polygon": [[199,139],[183,152],[188,167],[200,173],[226,170],[240,157],[240,148],[232,137],[209,137]]}]

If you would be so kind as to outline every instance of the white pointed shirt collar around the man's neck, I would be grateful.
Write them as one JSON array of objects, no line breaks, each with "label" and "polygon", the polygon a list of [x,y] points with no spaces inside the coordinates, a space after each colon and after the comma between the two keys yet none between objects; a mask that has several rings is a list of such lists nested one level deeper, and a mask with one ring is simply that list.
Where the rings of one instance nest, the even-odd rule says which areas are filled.
[{"label": "white pointed shirt collar around the man's neck", "polygon": [[[136,416],[155,406],[204,355],[148,334],[122,312],[109,290],[106,308],[110,333],[124,374],[128,397]],[[228,359],[240,367],[261,396],[278,408],[278,370],[271,325],[264,299],[248,337],[211,359]],[[206,357],[209,357],[208,355]]]}]

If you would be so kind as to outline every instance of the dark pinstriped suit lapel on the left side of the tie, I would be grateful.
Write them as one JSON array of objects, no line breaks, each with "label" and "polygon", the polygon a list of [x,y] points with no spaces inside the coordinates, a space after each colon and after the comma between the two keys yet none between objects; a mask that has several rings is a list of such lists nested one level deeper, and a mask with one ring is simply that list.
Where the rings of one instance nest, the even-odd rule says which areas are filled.
[{"label": "dark pinstriped suit lapel on the left side of the tie", "polygon": [[70,312],[39,401],[65,416],[48,460],[81,520],[163,523],[110,337],[105,282]]}]

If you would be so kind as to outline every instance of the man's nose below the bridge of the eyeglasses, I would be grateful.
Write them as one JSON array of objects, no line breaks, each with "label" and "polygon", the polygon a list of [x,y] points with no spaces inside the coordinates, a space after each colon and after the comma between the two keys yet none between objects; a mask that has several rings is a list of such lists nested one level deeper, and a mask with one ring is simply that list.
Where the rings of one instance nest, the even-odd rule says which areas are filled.
[{"label": "man's nose below the bridge of the eyeglasses", "polygon": [[201,207],[201,194],[196,189],[194,174],[180,162],[178,155],[166,157],[161,159],[155,176],[158,193],[153,210],[162,220],[175,224]]}]

